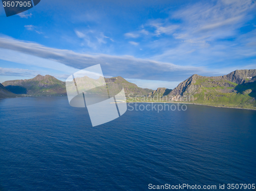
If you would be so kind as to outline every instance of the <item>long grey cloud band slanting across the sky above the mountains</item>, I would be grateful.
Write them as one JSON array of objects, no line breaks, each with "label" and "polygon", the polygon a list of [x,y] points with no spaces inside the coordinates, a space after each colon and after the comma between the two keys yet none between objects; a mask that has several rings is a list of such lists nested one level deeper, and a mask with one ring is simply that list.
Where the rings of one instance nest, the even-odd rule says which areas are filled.
[{"label": "long grey cloud band slanting across the sky above the mountains", "polygon": [[[83,69],[101,64],[104,75],[124,78],[165,80],[184,80],[195,73],[207,73],[202,67],[179,66],[167,62],[140,59],[133,56],[112,56],[106,54],[81,54],[69,50],[59,50],[29,41],[0,38],[0,47],[49,61]],[[17,60],[17,59],[16,59]],[[47,63],[46,63],[47,64]],[[42,65],[41,67],[44,67]]]}]

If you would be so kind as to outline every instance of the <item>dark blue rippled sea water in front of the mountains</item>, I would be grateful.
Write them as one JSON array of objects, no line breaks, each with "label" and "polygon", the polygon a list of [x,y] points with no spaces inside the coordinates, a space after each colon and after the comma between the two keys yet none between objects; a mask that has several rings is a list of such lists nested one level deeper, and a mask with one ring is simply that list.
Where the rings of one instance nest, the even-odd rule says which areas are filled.
[{"label": "dark blue rippled sea water in front of the mountains", "polygon": [[255,184],[256,111],[187,105],[92,127],[67,97],[0,99],[1,191],[183,183]]}]

